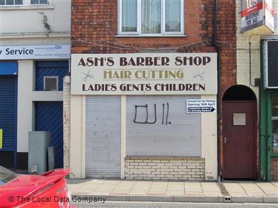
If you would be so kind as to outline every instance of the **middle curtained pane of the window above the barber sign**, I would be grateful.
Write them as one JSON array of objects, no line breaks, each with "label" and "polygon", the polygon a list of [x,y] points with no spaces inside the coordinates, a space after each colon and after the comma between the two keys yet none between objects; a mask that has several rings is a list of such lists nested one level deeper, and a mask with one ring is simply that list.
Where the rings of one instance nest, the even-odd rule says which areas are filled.
[{"label": "middle curtained pane of the window above the barber sign", "polygon": [[161,0],[142,0],[142,33],[161,33]]}]

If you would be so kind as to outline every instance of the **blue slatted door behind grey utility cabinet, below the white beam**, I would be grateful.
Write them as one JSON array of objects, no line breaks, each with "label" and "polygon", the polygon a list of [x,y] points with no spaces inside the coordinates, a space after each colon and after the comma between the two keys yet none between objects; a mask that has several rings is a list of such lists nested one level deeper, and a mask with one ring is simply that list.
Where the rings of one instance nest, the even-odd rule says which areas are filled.
[{"label": "blue slatted door behind grey utility cabinet, below the white beam", "polygon": [[35,130],[51,132],[55,168],[63,168],[63,102],[36,102]]}]

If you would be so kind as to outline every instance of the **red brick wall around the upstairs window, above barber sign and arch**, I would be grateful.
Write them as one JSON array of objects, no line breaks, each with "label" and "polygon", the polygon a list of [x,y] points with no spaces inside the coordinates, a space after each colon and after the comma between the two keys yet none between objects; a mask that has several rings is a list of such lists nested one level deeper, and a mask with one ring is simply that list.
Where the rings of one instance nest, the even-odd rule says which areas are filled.
[{"label": "red brick wall around the upstairs window, above barber sign and arch", "polygon": [[[137,53],[149,48],[179,48],[180,53],[215,52],[214,1],[184,2],[186,37],[117,37],[117,0],[72,0],[72,53]],[[222,98],[229,87],[236,85],[236,3],[219,2],[217,39],[221,41]]]}]

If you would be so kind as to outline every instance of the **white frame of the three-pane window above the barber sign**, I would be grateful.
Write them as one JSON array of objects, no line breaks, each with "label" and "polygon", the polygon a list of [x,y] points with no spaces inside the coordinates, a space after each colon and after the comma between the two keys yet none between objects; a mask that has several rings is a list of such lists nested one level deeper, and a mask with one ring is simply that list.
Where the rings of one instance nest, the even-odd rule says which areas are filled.
[{"label": "white frame of the three-pane window above the barber sign", "polygon": [[157,36],[183,36],[184,35],[184,0],[181,2],[181,31],[166,32],[165,31],[165,0],[161,0],[161,33],[141,33],[141,1],[137,0],[137,31],[122,32],[122,0],[118,0],[118,36],[142,36],[142,37],[157,37]]}]

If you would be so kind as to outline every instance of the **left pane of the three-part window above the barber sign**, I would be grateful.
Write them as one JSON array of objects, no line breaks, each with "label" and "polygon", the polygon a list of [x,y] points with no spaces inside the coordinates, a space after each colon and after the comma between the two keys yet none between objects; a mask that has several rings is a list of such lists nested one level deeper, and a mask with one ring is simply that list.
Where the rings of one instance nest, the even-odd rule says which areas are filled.
[{"label": "left pane of the three-part window above the barber sign", "polygon": [[122,32],[137,31],[137,0],[122,1]]}]

